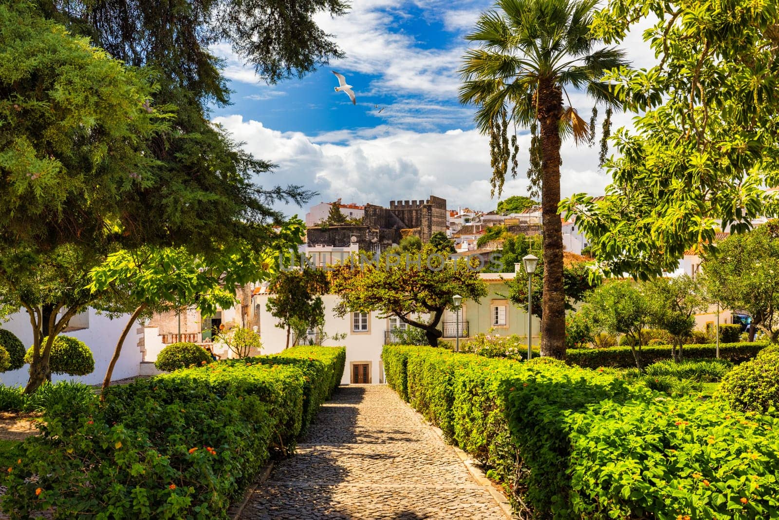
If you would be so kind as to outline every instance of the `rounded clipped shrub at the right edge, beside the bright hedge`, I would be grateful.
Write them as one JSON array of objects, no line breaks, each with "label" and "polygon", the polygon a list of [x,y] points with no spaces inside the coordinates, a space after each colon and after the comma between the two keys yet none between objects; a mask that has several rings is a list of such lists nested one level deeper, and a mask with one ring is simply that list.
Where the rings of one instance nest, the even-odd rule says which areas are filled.
[{"label": "rounded clipped shrub at the right edge, beside the bright hedge", "polygon": [[722,378],[720,390],[738,410],[779,408],[779,352],[767,352],[735,366]]}]

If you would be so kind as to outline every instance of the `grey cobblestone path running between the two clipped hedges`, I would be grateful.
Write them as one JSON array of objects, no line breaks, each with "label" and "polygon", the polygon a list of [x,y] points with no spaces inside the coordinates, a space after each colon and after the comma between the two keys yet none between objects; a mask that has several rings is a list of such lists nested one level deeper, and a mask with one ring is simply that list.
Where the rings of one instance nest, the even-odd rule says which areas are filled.
[{"label": "grey cobblestone path running between the two clipped hedges", "polygon": [[452,447],[385,385],[341,387],[246,520],[505,520]]}]

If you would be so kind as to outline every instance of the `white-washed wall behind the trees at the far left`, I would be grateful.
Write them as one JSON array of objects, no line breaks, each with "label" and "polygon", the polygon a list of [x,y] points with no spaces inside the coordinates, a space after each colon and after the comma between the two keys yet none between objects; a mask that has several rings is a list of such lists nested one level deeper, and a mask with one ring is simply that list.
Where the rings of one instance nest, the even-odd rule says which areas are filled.
[{"label": "white-washed wall behind the trees at the far left", "polygon": [[[95,370],[86,376],[53,375],[51,380],[75,380],[84,384],[100,384],[103,382],[105,371],[108,370],[108,363],[111,362],[111,357],[114,356],[116,342],[122,334],[127,320],[129,320],[129,314],[111,320],[104,315],[98,314],[93,309],[87,312],[89,313],[89,327],[80,331],[65,332],[65,335],[79,338],[86,343],[92,350],[92,355],[95,359]],[[30,317],[28,317],[25,311],[12,314],[10,320],[0,324],[0,327],[16,334],[25,346],[29,347],[29,345],[33,344]],[[138,332],[139,328],[139,324],[134,324],[129,334],[127,334],[127,338],[125,338],[125,342],[122,345],[122,355],[119,356],[119,360],[114,368],[113,379],[115,380],[139,374],[141,351],[138,342],[142,337]],[[23,386],[27,383],[29,368],[29,365],[25,365],[18,370],[0,373],[0,382],[6,386]]]}]

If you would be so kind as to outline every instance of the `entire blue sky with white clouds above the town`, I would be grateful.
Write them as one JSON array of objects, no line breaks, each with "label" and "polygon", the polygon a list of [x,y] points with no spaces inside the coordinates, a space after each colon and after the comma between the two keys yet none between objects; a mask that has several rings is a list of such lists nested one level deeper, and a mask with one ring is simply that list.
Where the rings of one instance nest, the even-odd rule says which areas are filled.
[{"label": "entire blue sky with white clouds above the town", "polygon": [[[227,60],[233,104],[213,109],[213,119],[245,142],[256,157],[278,164],[260,179],[270,184],[301,184],[319,192],[311,203],[386,205],[395,199],[443,196],[450,208],[490,210],[488,140],[474,129],[473,108],[457,102],[464,35],[483,0],[354,0],[346,16],[319,16],[346,58],[303,80],[268,86],[227,46],[214,51]],[[626,42],[645,61],[636,34]],[[357,96],[353,106],[337,93],[336,70]],[[591,104],[573,95],[589,114]],[[381,113],[379,109],[383,108]],[[619,124],[629,123],[626,115]],[[527,163],[527,136],[520,136],[520,172]],[[602,193],[608,183],[597,170],[597,150],[566,144],[562,193]],[[506,183],[504,197],[527,194],[527,179]],[[305,214],[305,208],[284,207]]]}]

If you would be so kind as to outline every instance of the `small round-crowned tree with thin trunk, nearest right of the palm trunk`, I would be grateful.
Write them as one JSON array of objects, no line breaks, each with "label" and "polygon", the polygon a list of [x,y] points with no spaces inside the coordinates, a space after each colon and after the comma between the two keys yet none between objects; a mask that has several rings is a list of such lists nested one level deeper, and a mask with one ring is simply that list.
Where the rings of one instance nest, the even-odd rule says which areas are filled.
[{"label": "small round-crowned tree with thin trunk, nearest right of the palm trunk", "polygon": [[[641,365],[641,331],[650,320],[651,304],[640,288],[628,280],[609,281],[596,288],[580,310],[589,317],[597,331],[608,334],[627,334],[633,359],[638,370]],[[637,347],[637,349],[636,349]]]}]

